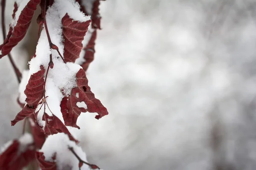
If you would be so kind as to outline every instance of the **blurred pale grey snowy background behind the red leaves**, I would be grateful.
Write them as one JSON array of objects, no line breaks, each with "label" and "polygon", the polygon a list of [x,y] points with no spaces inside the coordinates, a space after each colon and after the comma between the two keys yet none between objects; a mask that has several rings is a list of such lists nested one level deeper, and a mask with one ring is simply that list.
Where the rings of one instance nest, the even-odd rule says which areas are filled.
[{"label": "blurred pale grey snowy background behind the red leaves", "polygon": [[[87,78],[109,115],[79,117],[88,160],[105,170],[256,170],[256,0],[106,0],[100,14]],[[21,70],[34,25],[12,52]],[[21,123],[10,127],[16,81],[4,57],[0,145],[21,134]]]}]

